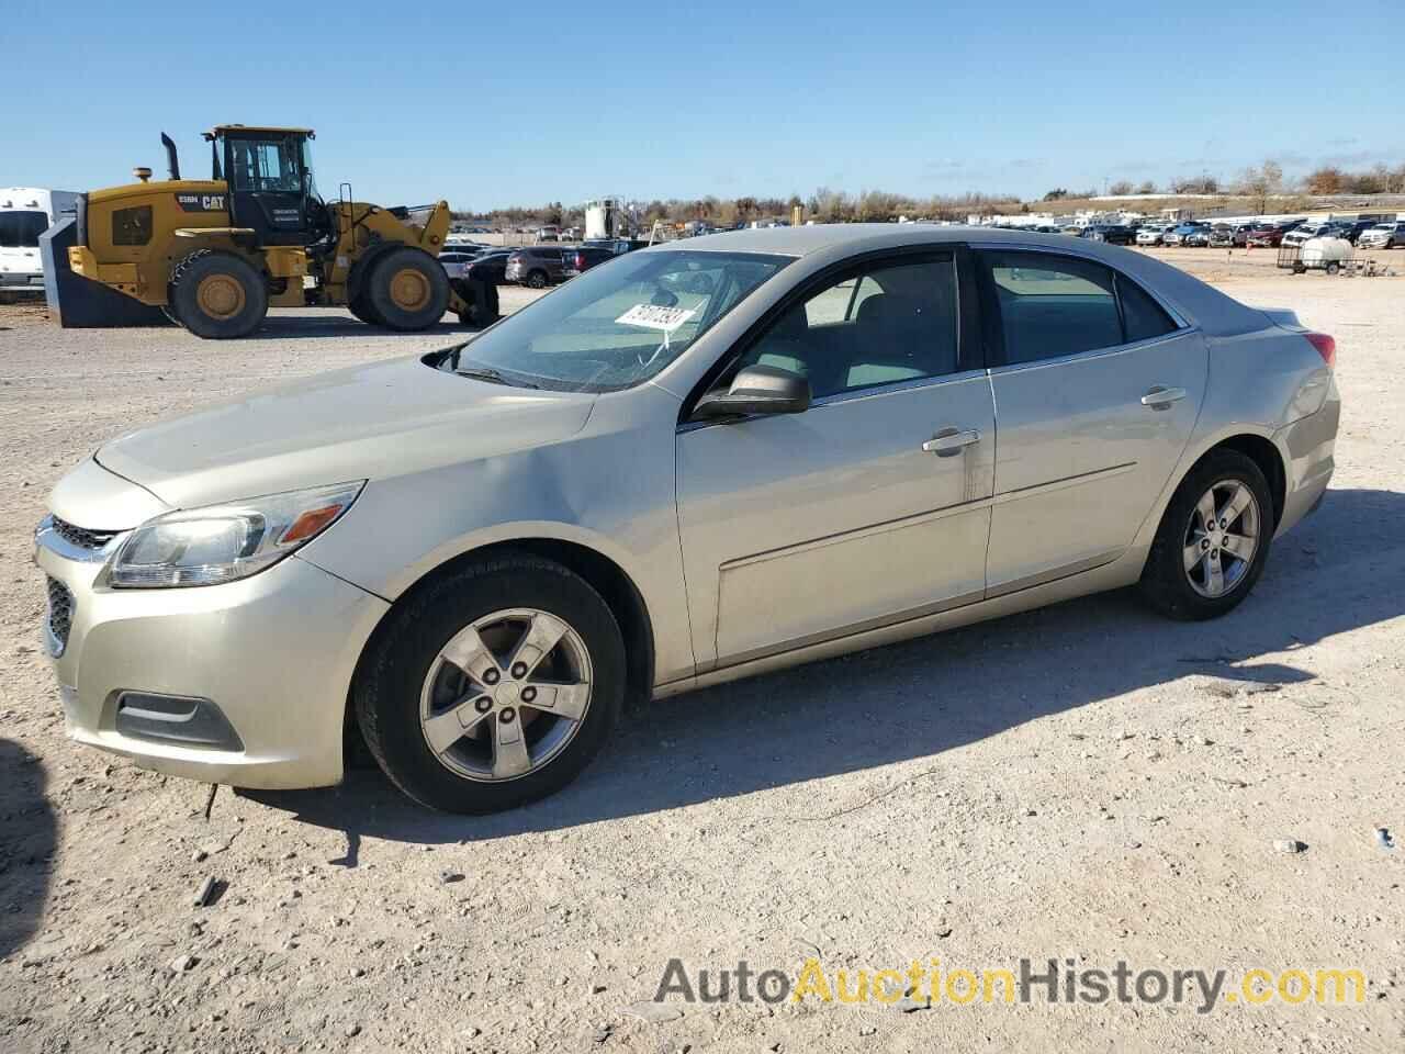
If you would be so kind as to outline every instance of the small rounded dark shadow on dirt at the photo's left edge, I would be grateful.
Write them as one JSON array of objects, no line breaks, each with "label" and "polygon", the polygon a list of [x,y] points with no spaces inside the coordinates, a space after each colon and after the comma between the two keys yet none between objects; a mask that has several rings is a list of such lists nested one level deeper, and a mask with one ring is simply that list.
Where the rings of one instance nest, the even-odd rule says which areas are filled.
[{"label": "small rounded dark shadow on dirt at the photo's left edge", "polygon": [[39,929],[58,836],[39,759],[0,739],[0,961]]}]

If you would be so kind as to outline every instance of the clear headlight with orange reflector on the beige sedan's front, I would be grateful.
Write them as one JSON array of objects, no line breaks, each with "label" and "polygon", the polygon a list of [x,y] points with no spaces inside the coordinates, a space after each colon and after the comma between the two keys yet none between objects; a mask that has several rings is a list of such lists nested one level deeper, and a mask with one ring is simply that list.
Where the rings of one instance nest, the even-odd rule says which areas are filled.
[{"label": "clear headlight with orange reflector on the beige sedan's front", "polygon": [[148,520],[112,558],[119,589],[214,586],[247,578],[316,538],[344,513],[365,481],[289,490],[247,502],[181,509]]}]

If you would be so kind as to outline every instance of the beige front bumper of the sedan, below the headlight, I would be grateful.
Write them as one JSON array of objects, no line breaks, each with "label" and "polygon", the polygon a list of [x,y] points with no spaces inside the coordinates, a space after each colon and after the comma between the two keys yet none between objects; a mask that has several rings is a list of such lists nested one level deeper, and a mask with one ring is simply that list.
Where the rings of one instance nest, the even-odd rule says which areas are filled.
[{"label": "beige front bumper of the sedan, below the headlight", "polygon": [[[55,583],[70,599],[59,620],[65,639],[48,616],[44,628],[69,738],[145,769],[233,787],[341,780],[347,691],[389,607],[384,600],[296,555],[247,579],[192,589],[104,587],[103,559],[83,559],[45,531],[35,562],[51,579],[51,603]],[[233,736],[208,746],[119,731],[124,693],[140,693],[148,708],[139,713],[148,714],[153,697],[208,701]],[[126,720],[133,727],[140,721]]]}]

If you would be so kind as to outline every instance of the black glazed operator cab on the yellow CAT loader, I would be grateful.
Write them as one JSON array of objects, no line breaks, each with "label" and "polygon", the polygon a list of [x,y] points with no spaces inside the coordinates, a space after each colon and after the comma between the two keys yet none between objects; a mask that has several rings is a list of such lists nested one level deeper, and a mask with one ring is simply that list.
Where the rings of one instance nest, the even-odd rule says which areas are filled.
[{"label": "black glazed operator cab on the yellow CAT loader", "polygon": [[229,184],[229,221],[260,246],[309,245],[326,209],[312,178],[312,129],[221,125],[205,132],[214,178]]}]

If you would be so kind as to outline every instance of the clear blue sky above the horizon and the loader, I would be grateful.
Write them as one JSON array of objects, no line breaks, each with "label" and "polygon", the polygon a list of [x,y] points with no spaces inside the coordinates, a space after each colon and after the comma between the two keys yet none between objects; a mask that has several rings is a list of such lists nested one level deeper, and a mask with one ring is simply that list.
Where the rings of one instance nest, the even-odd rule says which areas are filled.
[{"label": "clear blue sky above the horizon and the loader", "polygon": [[205,174],[235,121],[315,128],[325,194],[457,208],[1405,162],[1405,0],[4,7],[0,186],[163,173],[162,129]]}]

